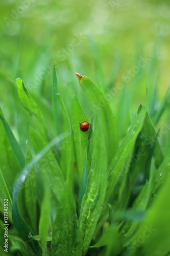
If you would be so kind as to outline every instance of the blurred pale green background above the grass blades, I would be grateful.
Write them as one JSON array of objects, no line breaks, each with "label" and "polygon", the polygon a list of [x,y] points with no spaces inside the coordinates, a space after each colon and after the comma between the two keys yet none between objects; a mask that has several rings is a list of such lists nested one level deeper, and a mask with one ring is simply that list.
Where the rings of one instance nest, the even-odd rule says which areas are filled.
[{"label": "blurred pale green background above the grass blades", "polygon": [[99,84],[105,94],[116,89],[110,100],[113,111],[121,104],[116,84],[127,82],[128,93],[134,79],[138,83],[129,113],[143,102],[145,86],[151,95],[157,81],[162,100],[169,83],[169,17],[169,1],[2,0],[0,101],[21,146],[25,148],[30,114],[21,106],[15,79],[25,82],[52,127],[54,64],[68,112],[75,92],[91,116],[74,71]]}]

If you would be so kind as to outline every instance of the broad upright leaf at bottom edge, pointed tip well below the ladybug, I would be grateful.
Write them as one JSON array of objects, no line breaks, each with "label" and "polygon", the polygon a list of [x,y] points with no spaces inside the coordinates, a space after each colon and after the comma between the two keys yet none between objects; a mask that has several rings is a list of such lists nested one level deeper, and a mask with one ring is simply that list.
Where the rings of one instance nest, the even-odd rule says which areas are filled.
[{"label": "broad upright leaf at bottom edge, pointed tip well below the ladybug", "polygon": [[[66,184],[57,207],[57,215],[53,224],[52,256],[74,255],[77,237],[76,203],[72,190]],[[79,254],[81,255],[81,254]]]}]

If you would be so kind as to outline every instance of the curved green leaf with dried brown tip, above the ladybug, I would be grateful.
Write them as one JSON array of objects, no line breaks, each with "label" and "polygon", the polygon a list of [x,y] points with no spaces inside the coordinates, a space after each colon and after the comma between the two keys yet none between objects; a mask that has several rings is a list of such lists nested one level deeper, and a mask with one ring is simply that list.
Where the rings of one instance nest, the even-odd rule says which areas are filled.
[{"label": "curved green leaf with dried brown tip, above the ladybug", "polygon": [[88,77],[76,73],[90,107],[100,118],[102,133],[105,134],[108,162],[110,163],[118,147],[118,133],[115,118],[109,105],[112,96],[107,100],[101,90]]}]

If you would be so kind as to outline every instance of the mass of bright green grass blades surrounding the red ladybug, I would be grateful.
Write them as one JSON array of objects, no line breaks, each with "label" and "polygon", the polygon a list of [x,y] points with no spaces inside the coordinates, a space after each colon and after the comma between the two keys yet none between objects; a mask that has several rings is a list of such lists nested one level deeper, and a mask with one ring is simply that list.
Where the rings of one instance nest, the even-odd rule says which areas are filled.
[{"label": "mass of bright green grass blades surrounding the red ladybug", "polygon": [[[150,65],[153,70],[154,61]],[[20,133],[0,113],[1,255],[165,256],[170,251],[169,91],[157,109],[157,81],[137,106],[137,75],[131,86],[115,86],[112,95],[98,74],[100,87],[76,73],[76,95],[64,89],[60,95],[54,67],[49,102],[16,79]],[[80,130],[83,121],[90,122],[87,132]]]}]

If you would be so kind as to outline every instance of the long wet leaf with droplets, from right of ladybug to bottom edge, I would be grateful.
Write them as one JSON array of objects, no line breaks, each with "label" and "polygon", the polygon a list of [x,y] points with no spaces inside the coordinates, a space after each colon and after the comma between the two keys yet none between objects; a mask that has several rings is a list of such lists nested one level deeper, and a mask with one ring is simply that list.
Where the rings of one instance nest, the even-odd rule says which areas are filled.
[{"label": "long wet leaf with droplets, from right of ladybug to bottom edge", "polygon": [[[83,255],[86,254],[94,229],[99,221],[107,183],[107,152],[105,139],[95,121],[94,148],[85,195],[82,199],[79,230],[83,239]],[[100,139],[99,139],[100,138]]]}]

